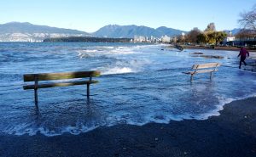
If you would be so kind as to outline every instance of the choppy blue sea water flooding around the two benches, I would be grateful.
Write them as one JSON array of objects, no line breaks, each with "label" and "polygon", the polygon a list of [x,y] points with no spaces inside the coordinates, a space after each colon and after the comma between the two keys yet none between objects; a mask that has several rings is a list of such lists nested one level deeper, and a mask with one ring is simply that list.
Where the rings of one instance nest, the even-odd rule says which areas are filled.
[{"label": "choppy blue sea water flooding around the two benches", "polygon": [[[218,55],[207,59],[199,54]],[[79,134],[99,126],[144,125],[219,115],[224,104],[256,95],[256,74],[238,69],[238,52],[134,43],[0,43],[0,133]],[[182,72],[218,62],[213,74]],[[23,75],[100,70],[98,84],[23,90]]]}]

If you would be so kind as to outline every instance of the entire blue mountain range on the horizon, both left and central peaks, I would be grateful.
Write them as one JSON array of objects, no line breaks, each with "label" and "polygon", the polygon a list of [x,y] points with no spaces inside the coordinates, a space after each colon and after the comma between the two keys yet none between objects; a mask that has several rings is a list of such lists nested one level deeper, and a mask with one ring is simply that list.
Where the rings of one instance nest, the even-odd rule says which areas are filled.
[{"label": "entire blue mountain range on the horizon, both left and central peaks", "polygon": [[106,25],[96,32],[88,33],[72,29],[56,28],[47,25],[32,25],[24,22],[10,22],[0,25],[0,42],[42,42],[50,37],[95,36],[113,38],[133,38],[134,36],[178,36],[187,31],[176,30],[166,26],[151,28],[138,25]]}]

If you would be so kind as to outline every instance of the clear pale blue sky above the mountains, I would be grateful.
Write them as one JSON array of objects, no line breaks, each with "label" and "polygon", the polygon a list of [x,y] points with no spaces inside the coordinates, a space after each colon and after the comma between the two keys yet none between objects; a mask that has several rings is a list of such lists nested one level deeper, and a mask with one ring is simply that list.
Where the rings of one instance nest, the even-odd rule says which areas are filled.
[{"label": "clear pale blue sky above the mountains", "polygon": [[93,32],[109,24],[204,30],[214,22],[222,31],[239,27],[239,14],[254,4],[255,0],[1,0],[0,24],[20,21]]}]

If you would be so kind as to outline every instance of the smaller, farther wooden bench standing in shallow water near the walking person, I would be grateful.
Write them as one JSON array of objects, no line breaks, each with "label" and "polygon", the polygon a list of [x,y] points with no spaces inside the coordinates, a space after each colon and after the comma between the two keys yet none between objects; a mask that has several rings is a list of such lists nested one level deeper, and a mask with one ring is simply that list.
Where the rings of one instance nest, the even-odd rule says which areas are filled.
[{"label": "smaller, farther wooden bench standing in shallow water near the walking person", "polygon": [[198,73],[207,73],[210,72],[210,79],[212,80],[212,73],[217,70],[217,67],[220,66],[219,63],[207,63],[207,64],[194,64],[192,66],[193,71],[183,72],[184,74],[191,75],[190,81],[193,81],[193,76]]}]

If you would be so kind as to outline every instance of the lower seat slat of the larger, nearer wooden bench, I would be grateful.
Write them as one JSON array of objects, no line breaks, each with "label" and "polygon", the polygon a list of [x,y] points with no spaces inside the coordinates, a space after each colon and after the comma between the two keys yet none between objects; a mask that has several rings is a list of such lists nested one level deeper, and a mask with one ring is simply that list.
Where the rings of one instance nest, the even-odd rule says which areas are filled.
[{"label": "lower seat slat of the larger, nearer wooden bench", "polygon": [[[89,83],[98,83],[99,81],[71,81],[71,82],[60,82],[60,83],[44,83],[44,84],[38,84],[38,88],[46,88],[46,87],[67,87],[67,86],[75,86],[75,85],[84,85]],[[23,86],[23,89],[35,89],[35,85],[26,85]]]}]

